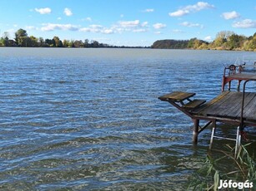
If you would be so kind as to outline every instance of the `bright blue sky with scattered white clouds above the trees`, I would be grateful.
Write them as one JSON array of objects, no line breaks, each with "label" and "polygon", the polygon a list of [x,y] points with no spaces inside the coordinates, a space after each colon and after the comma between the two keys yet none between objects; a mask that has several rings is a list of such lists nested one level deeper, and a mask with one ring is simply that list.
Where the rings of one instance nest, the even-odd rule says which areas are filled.
[{"label": "bright blue sky with scattered white clouds above the trees", "polygon": [[151,46],[160,39],[213,41],[256,32],[255,0],[1,0],[0,34]]}]

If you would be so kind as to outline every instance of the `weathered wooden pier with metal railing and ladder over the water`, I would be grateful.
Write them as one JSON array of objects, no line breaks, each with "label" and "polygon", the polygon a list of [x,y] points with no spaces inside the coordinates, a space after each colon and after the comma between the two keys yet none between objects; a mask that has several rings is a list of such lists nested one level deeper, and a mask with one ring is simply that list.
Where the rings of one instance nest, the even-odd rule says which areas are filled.
[{"label": "weathered wooden pier with metal railing and ladder over the water", "polygon": [[[231,81],[238,81],[238,87],[241,81],[244,81],[243,91],[230,91]],[[195,144],[198,142],[198,135],[212,125],[211,149],[213,138],[222,138],[214,135],[218,121],[238,126],[236,139],[222,138],[236,141],[235,153],[237,154],[244,127],[256,126],[256,92],[245,91],[248,81],[256,81],[256,75],[242,73],[238,66],[232,65],[224,70],[223,92],[213,100],[206,102],[206,100],[194,99],[195,93],[183,91],[174,91],[158,99],[168,101],[193,120],[193,143]],[[224,91],[227,83],[228,91]],[[201,127],[200,120],[207,121],[207,123]]]}]

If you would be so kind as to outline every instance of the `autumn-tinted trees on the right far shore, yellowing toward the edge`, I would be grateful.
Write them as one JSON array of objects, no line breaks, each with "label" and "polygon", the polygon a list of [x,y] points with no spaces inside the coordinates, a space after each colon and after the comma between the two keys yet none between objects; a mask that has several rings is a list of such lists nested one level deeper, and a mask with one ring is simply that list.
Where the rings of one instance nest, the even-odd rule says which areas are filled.
[{"label": "autumn-tinted trees on the right far shore, yellowing toward the edge", "polygon": [[197,38],[190,40],[159,40],[153,42],[152,48],[161,49],[213,49],[231,51],[256,51],[256,32],[245,37],[230,31],[218,32],[213,42],[205,42]]}]

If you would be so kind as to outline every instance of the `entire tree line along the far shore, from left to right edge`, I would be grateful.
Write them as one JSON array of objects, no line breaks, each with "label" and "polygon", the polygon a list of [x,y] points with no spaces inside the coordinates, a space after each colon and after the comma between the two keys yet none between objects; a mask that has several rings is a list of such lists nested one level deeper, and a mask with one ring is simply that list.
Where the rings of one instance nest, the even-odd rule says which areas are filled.
[{"label": "entire tree line along the far shore, from left to right edge", "polygon": [[[3,33],[0,38],[0,47],[118,47],[100,43],[98,41],[82,40],[60,40],[55,36],[52,39],[43,37],[28,36],[22,28],[15,32],[15,38],[9,38],[8,32]],[[125,46],[121,46],[125,47]],[[127,47],[126,47],[127,48]],[[131,47],[133,48],[133,47]],[[148,47],[136,47],[148,48]],[[213,42],[205,42],[198,38],[190,40],[158,40],[153,42],[151,48],[161,49],[214,49],[214,50],[235,50],[235,51],[256,51],[256,32],[253,36],[245,37],[230,31],[218,32]]]}]

